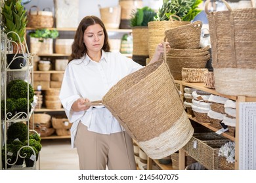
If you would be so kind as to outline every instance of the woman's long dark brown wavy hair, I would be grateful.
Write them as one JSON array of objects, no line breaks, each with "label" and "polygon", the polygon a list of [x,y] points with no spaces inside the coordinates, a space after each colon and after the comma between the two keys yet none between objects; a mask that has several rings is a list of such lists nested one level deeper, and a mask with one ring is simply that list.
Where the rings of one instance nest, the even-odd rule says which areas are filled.
[{"label": "woman's long dark brown wavy hair", "polygon": [[96,16],[85,16],[85,18],[81,20],[75,32],[74,42],[72,44],[72,54],[69,58],[69,62],[73,59],[79,59],[87,53],[87,48],[83,43],[83,33],[85,33],[87,27],[95,24],[99,24],[104,31],[105,39],[102,50],[105,52],[110,52],[110,44],[108,44],[108,33],[102,20]]}]

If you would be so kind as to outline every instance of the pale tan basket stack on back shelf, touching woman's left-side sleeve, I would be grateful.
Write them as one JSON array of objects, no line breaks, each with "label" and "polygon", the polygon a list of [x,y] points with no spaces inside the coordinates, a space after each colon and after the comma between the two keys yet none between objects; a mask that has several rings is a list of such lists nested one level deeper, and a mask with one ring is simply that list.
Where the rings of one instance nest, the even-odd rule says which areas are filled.
[{"label": "pale tan basket stack on back shelf, touching woman's left-side sleeve", "polygon": [[60,89],[50,89],[45,91],[45,105],[46,108],[50,109],[60,109],[62,104],[58,98],[60,95]]}]

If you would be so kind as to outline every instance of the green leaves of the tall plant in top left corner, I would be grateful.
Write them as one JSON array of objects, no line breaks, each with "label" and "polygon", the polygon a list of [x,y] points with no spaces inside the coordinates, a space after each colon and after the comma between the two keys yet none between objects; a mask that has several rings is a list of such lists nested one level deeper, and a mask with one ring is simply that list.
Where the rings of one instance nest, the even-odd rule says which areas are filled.
[{"label": "green leaves of the tall plant in top left corner", "polygon": [[[20,37],[20,41],[24,42],[24,35],[26,33],[26,25],[28,23],[28,16],[26,9],[22,5],[22,0],[6,0],[2,8],[3,29],[5,33],[14,31]],[[12,41],[19,42],[18,37],[11,33],[9,38]]]}]

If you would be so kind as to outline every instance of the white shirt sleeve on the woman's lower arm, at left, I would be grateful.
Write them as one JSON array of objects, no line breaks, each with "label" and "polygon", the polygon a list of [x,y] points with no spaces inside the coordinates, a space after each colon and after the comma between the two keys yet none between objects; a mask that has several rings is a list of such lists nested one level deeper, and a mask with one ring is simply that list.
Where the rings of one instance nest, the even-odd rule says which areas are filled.
[{"label": "white shirt sleeve on the woman's lower arm, at left", "polygon": [[66,116],[71,123],[81,119],[83,114],[85,114],[85,111],[74,112],[72,110],[73,103],[80,97],[81,95],[79,95],[79,92],[75,87],[75,79],[72,76],[72,69],[67,67],[62,80],[59,99],[66,112]]}]

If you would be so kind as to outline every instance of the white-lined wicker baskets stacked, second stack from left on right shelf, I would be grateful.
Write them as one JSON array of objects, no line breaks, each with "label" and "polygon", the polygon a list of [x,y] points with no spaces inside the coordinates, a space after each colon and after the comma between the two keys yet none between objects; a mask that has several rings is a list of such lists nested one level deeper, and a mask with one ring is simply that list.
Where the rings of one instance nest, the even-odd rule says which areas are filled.
[{"label": "white-lined wicker baskets stacked, second stack from left on right shelf", "polygon": [[192,92],[192,110],[196,120],[202,123],[210,122],[210,118],[207,115],[211,110],[211,103],[209,103],[210,93],[203,92],[202,90],[196,90]]}]

